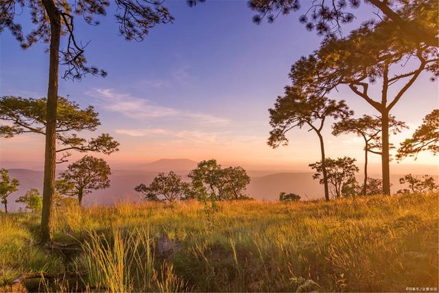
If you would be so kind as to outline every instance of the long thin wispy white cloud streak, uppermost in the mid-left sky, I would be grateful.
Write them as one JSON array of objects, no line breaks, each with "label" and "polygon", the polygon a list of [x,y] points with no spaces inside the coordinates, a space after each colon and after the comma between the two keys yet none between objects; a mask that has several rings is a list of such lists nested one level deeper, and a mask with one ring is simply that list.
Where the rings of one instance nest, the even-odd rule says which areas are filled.
[{"label": "long thin wispy white cloud streak, uppermost in the mid-left sky", "polygon": [[215,126],[225,126],[230,122],[226,118],[214,115],[193,113],[187,110],[159,106],[147,99],[133,97],[125,93],[116,93],[112,89],[94,89],[93,91],[87,91],[86,95],[100,99],[104,108],[134,119],[186,119],[194,121],[197,124],[214,124]]}]

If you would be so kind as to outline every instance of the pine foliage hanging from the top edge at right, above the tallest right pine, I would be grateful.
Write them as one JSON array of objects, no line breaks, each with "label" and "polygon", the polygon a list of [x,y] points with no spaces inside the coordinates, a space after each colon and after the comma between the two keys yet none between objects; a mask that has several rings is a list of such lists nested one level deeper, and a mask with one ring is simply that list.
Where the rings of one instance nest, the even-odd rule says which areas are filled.
[{"label": "pine foliage hanging from the top edge at right, above the tallest right pine", "polygon": [[[438,47],[438,1],[437,0],[396,0],[365,1],[375,6],[384,16],[394,23],[394,30],[401,38],[416,43],[425,43]],[[355,19],[353,10],[359,7],[360,0],[248,0],[248,6],[257,14],[253,16],[255,23],[265,18],[273,22],[281,14],[289,14],[300,10],[301,3],[307,5],[305,13],[299,17],[307,30],[316,30],[327,38],[342,36],[342,27]],[[403,5],[403,9],[401,8]],[[422,17],[419,16],[422,12]],[[380,19],[383,19],[378,13]]]}]

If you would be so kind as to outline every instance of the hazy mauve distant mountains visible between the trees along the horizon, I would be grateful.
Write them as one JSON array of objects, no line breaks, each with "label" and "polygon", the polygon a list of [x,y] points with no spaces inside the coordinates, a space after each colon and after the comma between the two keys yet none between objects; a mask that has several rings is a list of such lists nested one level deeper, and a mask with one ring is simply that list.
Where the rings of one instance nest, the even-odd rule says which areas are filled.
[{"label": "hazy mauve distant mountains visible between the trees along the horizon", "polygon": [[[173,165],[175,163],[175,165]],[[170,169],[176,170],[188,180],[187,173],[189,169],[195,167],[196,162],[187,159],[163,159],[148,164],[148,170],[112,170],[110,176],[110,188],[94,191],[87,194],[84,198],[84,204],[112,204],[118,200],[141,200],[141,195],[134,191],[134,187],[140,183],[150,184],[158,172],[167,172]],[[192,165],[192,166],[191,166]],[[181,168],[178,170],[176,166]],[[156,168],[153,170],[153,168]],[[170,169],[166,169],[170,168]],[[15,200],[31,188],[43,190],[43,171],[34,171],[29,169],[10,169],[11,178],[17,178],[20,181],[19,191],[16,191],[9,197],[8,209],[16,211],[20,205]],[[263,175],[265,172],[249,171],[251,176],[250,185],[247,188],[247,194],[252,198],[261,200],[277,200],[278,194],[282,191],[299,194],[303,199],[322,198],[323,187],[318,180],[313,180],[311,172],[283,172]],[[379,177],[379,176],[375,176]],[[401,174],[391,176],[392,191],[401,188],[399,178]],[[438,180],[438,176],[434,176]],[[361,177],[358,178],[361,180]]]}]

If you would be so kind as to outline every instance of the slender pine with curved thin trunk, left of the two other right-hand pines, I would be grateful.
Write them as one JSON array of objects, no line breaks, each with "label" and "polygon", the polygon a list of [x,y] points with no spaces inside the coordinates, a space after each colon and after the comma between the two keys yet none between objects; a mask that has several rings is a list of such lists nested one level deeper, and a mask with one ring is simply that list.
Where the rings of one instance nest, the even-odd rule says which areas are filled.
[{"label": "slender pine with curved thin trunk, left of the two other right-hand pines", "polygon": [[278,97],[274,109],[270,112],[270,138],[268,145],[278,148],[279,145],[287,145],[288,139],[285,134],[294,128],[307,126],[316,132],[320,141],[320,154],[322,156],[322,184],[324,185],[324,197],[329,200],[329,187],[325,166],[324,141],[322,129],[324,122],[329,118],[346,118],[353,114],[344,101],[335,102],[324,96],[304,94],[296,87],[286,86],[285,96]]}]

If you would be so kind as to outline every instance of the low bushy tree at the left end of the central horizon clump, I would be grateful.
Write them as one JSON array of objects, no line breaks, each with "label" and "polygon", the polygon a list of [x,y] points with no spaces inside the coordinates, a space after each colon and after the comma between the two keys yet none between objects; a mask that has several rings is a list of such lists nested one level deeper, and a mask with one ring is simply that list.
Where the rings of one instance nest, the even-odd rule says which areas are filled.
[{"label": "low bushy tree at the left end of the central horizon clump", "polygon": [[145,200],[158,201],[164,198],[169,202],[185,199],[190,192],[189,183],[183,182],[181,176],[173,171],[167,175],[161,172],[149,186],[141,183],[134,190],[143,194]]}]

